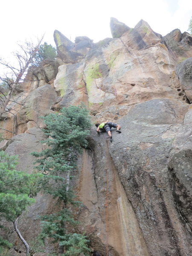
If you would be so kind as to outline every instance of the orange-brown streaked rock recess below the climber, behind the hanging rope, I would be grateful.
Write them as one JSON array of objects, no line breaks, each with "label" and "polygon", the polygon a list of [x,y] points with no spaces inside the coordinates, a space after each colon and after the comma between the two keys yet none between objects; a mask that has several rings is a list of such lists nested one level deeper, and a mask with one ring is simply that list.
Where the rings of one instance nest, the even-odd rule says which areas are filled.
[{"label": "orange-brown streaked rock recess below the climber, behind the hanging rope", "polygon": [[[105,204],[108,179],[109,255],[149,256],[136,216],[119,182],[113,161],[107,156],[105,134],[101,134],[100,139],[95,140],[91,149],[93,152],[84,150],[82,160],[79,162],[80,172],[76,174],[77,197],[81,198],[84,204],[78,214],[81,222],[79,231],[86,231],[91,240],[91,247],[99,250],[102,255],[106,255]],[[96,151],[98,154],[95,154]],[[88,187],[87,184],[89,184]]]}]

